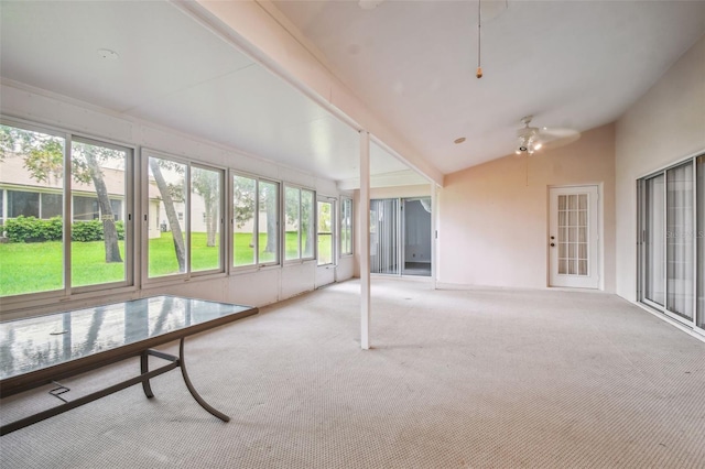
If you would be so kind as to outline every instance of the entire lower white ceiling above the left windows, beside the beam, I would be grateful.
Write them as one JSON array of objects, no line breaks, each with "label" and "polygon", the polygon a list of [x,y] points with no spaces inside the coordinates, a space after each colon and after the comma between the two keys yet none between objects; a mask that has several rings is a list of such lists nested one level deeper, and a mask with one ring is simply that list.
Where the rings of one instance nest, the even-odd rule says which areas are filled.
[{"label": "entire lower white ceiling above the left windows, beside the beam", "polygon": [[[167,1],[2,1],[2,77],[334,181],[358,132]],[[116,59],[104,59],[98,50]],[[373,171],[406,166],[376,152]]]}]

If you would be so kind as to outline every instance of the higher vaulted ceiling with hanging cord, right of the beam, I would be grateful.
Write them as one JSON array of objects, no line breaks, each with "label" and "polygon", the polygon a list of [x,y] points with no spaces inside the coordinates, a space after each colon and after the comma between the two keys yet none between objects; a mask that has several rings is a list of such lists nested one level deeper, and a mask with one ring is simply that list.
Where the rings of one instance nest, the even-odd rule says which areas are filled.
[{"label": "higher vaulted ceiling with hanging cord, right of the beam", "polygon": [[527,114],[579,131],[615,121],[705,32],[704,1],[482,0],[477,79],[477,1],[376,3],[273,1],[444,173],[511,153]]}]

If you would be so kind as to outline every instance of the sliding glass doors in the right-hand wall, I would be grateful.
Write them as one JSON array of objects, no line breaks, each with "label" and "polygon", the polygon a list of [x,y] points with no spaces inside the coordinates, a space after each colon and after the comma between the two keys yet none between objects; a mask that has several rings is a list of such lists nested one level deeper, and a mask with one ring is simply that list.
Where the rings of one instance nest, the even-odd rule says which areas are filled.
[{"label": "sliding glass doors in the right-hand wall", "polygon": [[639,181],[640,299],[703,327],[703,156]]}]

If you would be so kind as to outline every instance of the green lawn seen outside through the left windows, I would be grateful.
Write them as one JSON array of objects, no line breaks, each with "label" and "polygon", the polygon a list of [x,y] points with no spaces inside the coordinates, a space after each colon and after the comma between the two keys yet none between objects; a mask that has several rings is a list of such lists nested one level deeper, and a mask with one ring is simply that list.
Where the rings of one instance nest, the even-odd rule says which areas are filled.
[{"label": "green lawn seen outside through the left windows", "polygon": [[[235,265],[251,265],[253,248],[251,234],[236,233]],[[321,259],[329,259],[329,243],[319,246]],[[267,234],[260,234],[260,249],[267,246]],[[286,233],[288,257],[296,252],[295,233]],[[219,268],[219,249],[206,246],[206,233],[192,233],[192,271]],[[324,252],[325,251],[325,252]],[[124,259],[124,244],[120,241]],[[149,275],[178,273],[171,232],[149,241]],[[120,282],[124,279],[124,263],[106,263],[102,241],[72,243],[73,286]],[[144,257],[147,260],[147,257]],[[260,252],[260,262],[274,260],[274,253]],[[63,248],[61,241],[0,244],[0,296],[47,292],[63,288]],[[139,269],[139,266],[135,266]]]}]

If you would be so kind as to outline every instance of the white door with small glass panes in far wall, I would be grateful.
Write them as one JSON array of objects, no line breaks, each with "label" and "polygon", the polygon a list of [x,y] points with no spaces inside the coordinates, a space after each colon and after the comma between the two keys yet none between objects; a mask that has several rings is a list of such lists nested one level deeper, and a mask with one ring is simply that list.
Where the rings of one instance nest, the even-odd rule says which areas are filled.
[{"label": "white door with small glass panes in far wall", "polygon": [[597,186],[551,188],[551,286],[599,287],[598,196]]}]

